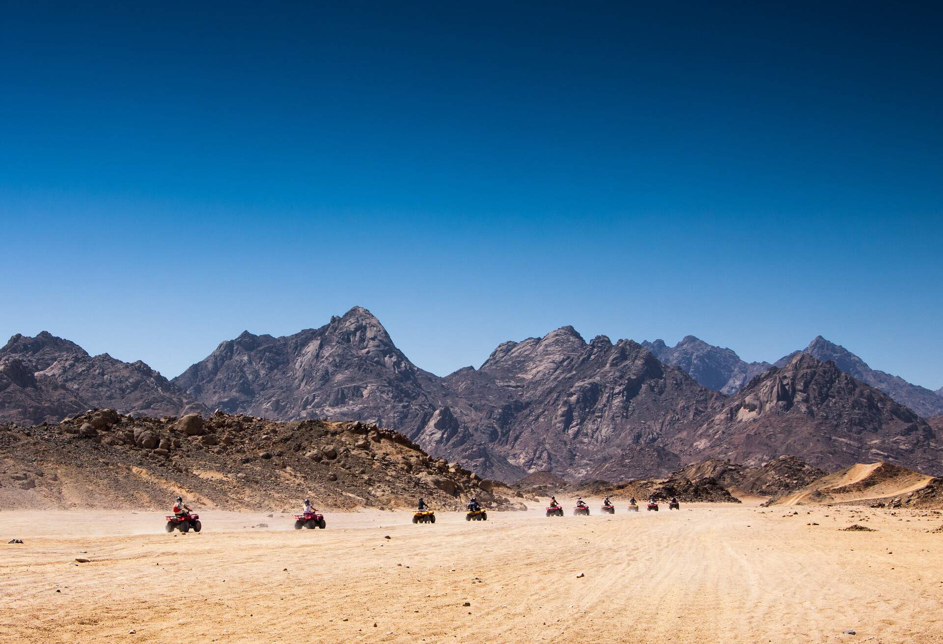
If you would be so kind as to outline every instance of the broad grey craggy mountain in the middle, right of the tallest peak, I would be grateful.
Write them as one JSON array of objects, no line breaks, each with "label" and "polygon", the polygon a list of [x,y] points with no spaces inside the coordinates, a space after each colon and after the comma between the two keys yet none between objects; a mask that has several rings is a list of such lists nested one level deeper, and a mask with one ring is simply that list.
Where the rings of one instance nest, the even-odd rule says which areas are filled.
[{"label": "broad grey craggy mountain in the middle, right of the tallest peak", "polygon": [[523,470],[571,478],[599,475],[604,464],[607,476],[670,471],[677,456],[660,442],[722,399],[637,342],[587,343],[569,326],[505,342],[481,369],[455,372],[445,385],[467,432],[446,442],[458,455],[465,444],[487,445]]}]

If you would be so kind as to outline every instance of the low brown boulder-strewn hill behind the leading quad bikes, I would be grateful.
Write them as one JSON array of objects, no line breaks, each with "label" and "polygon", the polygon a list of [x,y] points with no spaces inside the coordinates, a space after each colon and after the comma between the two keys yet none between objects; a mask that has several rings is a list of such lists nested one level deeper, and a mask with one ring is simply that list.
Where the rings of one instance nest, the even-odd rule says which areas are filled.
[{"label": "low brown boulder-strewn hill behind the leading quad bikes", "polygon": [[408,438],[360,422],[276,422],[198,414],[157,420],[112,409],[57,424],[0,424],[0,502],[10,508],[332,509],[410,507],[418,497],[459,509],[470,495],[524,509],[516,492]]}]

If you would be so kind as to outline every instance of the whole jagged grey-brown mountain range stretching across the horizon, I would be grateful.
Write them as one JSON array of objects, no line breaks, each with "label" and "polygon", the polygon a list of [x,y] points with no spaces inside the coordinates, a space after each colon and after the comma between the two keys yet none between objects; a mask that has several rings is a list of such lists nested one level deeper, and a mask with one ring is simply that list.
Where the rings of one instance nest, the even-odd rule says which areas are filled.
[{"label": "whole jagged grey-brown mountain range stretching across the horizon", "polygon": [[[90,356],[49,334],[14,336],[0,350],[0,419],[51,422],[108,406],[153,417],[220,409],[365,421],[505,481],[531,471],[618,481],[705,457],[759,466],[782,454],[826,470],[880,458],[941,471],[943,430],[835,363],[803,353],[769,367],[715,349],[694,338],[673,349],[587,342],[566,326],[505,342],[477,370],[438,377],[413,365],[357,306],[291,336],[242,333],[168,381],[143,363]],[[679,365],[654,353],[664,350]],[[692,371],[736,391],[705,387]]]}]

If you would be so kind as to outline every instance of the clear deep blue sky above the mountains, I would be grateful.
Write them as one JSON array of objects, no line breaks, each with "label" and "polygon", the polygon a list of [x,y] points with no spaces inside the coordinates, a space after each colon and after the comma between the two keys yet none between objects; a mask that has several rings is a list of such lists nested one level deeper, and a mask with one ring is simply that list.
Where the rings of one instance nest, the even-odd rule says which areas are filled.
[{"label": "clear deep blue sky above the mountains", "polygon": [[442,374],[572,324],[943,386],[939,4],[92,4],[0,14],[5,337],[174,376],[363,305]]}]

